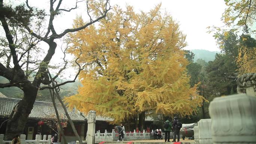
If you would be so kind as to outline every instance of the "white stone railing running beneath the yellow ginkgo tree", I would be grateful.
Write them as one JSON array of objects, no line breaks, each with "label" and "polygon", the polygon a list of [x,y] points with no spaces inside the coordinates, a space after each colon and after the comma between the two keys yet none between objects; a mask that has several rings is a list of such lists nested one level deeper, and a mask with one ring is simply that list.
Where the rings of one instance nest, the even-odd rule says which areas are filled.
[{"label": "white stone railing running beneath the yellow ginkgo tree", "polygon": [[[153,130],[152,132],[145,132],[145,130],[143,130],[143,132],[136,132],[135,129],[133,132],[127,132],[124,134],[124,140],[125,141],[130,141],[130,140],[150,140],[150,139],[154,139],[154,135],[153,135]],[[86,136],[86,140],[87,140],[88,135]],[[164,132],[162,132],[162,138],[164,139],[165,134]],[[171,133],[171,138],[173,137],[173,133]],[[112,129],[112,132],[107,132],[107,130],[105,130],[104,133],[100,133],[100,131],[97,131],[97,133],[95,134],[95,141],[117,141],[118,140],[118,133],[115,132],[115,129]]]}]

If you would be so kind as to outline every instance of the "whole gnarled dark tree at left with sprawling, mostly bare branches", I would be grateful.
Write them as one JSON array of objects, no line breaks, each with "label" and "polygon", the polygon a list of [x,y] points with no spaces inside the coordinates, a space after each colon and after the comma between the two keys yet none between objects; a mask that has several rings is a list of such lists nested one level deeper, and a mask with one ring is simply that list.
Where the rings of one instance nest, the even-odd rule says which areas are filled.
[{"label": "whole gnarled dark tree at left with sprawling, mostly bare branches", "polygon": [[[62,0],[50,0],[49,11],[30,6],[26,0],[21,4],[7,4],[0,0],[0,21],[1,29],[5,36],[0,37],[0,76],[9,80],[8,83],[0,83],[0,88],[18,87],[24,92],[24,97],[13,108],[6,128],[6,139],[10,140],[14,135],[21,134],[25,127],[28,115],[31,113],[37,91],[42,89],[54,89],[65,83],[74,82],[86,65],[79,65],[77,75],[73,80],[58,83],[53,86],[40,87],[41,84],[49,85],[47,68],[57,48],[56,40],[70,32],[75,32],[88,27],[91,24],[106,17],[111,9],[109,0],[87,0],[85,13],[89,15],[88,23],[77,28],[67,28],[57,33],[53,24],[54,18],[63,12],[70,12],[77,9],[82,1],[76,1],[75,6],[62,8]],[[44,27],[46,22],[46,27]],[[45,43],[48,51],[44,53],[39,43]],[[63,50],[65,55],[65,49]],[[67,61],[59,68],[57,74],[52,77],[55,80],[67,66]],[[31,74],[33,79],[31,80]]]}]

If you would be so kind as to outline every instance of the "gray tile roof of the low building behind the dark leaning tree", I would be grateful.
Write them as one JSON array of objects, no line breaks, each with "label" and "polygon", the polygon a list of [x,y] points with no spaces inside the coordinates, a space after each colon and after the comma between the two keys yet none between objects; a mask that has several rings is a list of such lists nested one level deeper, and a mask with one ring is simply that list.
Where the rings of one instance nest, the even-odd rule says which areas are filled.
[{"label": "gray tile roof of the low building behind the dark leaning tree", "polygon": [[[0,97],[0,117],[9,117],[13,107],[21,99],[16,98],[2,98]],[[56,104],[58,112],[64,114],[64,110],[60,104]],[[49,117],[49,115],[55,114],[54,107],[52,102],[44,101],[35,101],[34,107],[31,113],[28,116],[28,119],[41,119]],[[69,110],[68,114],[70,115],[73,122],[85,122],[85,118],[77,110]],[[67,119],[67,118],[66,118]]]}]

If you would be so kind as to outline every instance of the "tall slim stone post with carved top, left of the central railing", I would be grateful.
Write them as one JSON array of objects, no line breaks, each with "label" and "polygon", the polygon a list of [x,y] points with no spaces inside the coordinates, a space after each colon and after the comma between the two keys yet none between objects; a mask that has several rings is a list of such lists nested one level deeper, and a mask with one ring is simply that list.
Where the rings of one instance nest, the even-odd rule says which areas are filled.
[{"label": "tall slim stone post with carved top, left of the central railing", "polygon": [[88,123],[87,144],[94,144],[95,143],[96,111],[94,111],[94,110],[89,111],[87,123]]}]

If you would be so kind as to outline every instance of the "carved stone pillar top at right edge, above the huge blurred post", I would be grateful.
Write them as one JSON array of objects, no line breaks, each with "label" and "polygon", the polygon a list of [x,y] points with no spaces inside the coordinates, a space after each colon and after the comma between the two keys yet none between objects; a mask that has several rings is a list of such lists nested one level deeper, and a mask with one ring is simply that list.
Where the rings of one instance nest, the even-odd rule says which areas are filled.
[{"label": "carved stone pillar top at right edge, above the huge blurred post", "polygon": [[237,93],[256,96],[256,73],[244,74],[237,79]]}]

